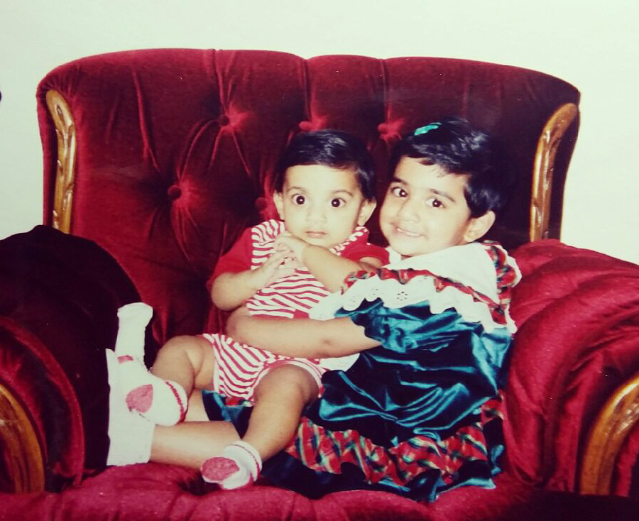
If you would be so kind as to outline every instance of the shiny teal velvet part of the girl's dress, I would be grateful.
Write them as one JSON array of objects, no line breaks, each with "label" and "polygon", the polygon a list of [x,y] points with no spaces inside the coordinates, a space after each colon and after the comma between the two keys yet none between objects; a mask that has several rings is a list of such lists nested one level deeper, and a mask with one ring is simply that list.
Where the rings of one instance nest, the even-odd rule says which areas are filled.
[{"label": "shiny teal velvet part of the girl's dress", "polygon": [[312,407],[322,424],[356,429],[382,445],[415,434],[441,439],[497,395],[507,329],[487,333],[454,311],[432,314],[427,303],[392,310],[366,304],[351,319],[383,347],[360,353],[346,373],[322,378],[322,400]]}]

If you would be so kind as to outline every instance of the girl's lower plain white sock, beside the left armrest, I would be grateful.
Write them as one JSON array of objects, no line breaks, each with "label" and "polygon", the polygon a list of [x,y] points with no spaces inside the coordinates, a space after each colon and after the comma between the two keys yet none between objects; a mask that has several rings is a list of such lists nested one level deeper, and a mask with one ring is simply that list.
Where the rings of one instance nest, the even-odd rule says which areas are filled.
[{"label": "girl's lower plain white sock, beside the left armrest", "polygon": [[126,407],[119,379],[116,354],[107,349],[109,374],[109,453],[107,465],[146,463],[151,459],[151,444],[155,424],[133,414]]}]

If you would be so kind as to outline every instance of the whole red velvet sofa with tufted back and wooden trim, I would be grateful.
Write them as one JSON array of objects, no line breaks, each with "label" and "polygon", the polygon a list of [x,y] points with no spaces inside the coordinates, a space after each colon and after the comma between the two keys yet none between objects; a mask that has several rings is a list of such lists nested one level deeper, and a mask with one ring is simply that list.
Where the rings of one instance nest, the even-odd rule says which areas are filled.
[{"label": "whole red velvet sofa with tufted back and wooden trim", "polygon": [[[638,511],[639,266],[557,240],[579,128],[572,85],[467,60],[163,49],[62,65],[37,100],[44,226],[0,241],[0,520]],[[104,349],[117,307],[143,300],[155,309],[149,363],[170,336],[219,330],[224,314],[206,280],[246,226],[271,216],[265,194],[290,136],[360,136],[381,196],[400,134],[447,115],[503,136],[518,169],[515,197],[491,231],[523,272],[496,488],[459,488],[430,504],[371,490],[309,499],[266,482],[221,492],[177,466],[105,469]]]}]

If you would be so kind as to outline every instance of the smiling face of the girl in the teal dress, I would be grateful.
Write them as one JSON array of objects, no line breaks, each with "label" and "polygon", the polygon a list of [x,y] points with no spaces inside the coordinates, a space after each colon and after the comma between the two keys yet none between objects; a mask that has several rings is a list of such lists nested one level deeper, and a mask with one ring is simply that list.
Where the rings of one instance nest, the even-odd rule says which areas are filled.
[{"label": "smiling face of the girl in the teal dress", "polygon": [[[488,229],[478,226],[482,217],[472,218],[466,204],[466,177],[402,158],[380,211],[381,231],[391,248],[403,257],[413,257],[484,235]],[[488,214],[492,224],[494,214]]]}]

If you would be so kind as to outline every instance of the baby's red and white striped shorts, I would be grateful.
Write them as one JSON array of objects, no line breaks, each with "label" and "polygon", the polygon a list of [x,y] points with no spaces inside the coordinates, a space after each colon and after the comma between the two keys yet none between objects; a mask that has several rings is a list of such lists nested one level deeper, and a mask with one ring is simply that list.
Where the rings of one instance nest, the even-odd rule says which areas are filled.
[{"label": "baby's red and white striped shorts", "polygon": [[326,369],[320,367],[319,360],[276,355],[241,344],[225,334],[205,333],[202,337],[213,347],[215,369],[212,386],[221,395],[253,401],[253,393],[263,376],[271,369],[287,364],[308,371],[317,388],[322,388],[322,374]]}]

